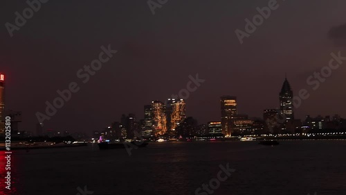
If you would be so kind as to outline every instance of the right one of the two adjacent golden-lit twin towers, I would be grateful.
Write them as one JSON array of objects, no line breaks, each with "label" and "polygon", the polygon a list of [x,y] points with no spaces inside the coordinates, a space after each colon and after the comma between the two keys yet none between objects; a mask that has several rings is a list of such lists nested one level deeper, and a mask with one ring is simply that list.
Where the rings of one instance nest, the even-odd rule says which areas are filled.
[{"label": "right one of the two adjacent golden-lit twin towers", "polygon": [[173,133],[176,127],[185,119],[185,101],[183,99],[168,99],[167,130]]}]

